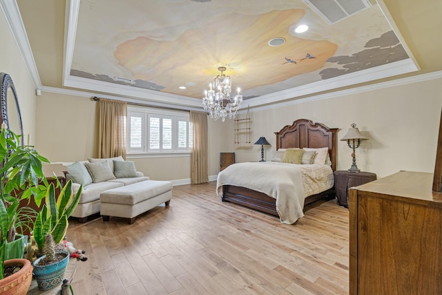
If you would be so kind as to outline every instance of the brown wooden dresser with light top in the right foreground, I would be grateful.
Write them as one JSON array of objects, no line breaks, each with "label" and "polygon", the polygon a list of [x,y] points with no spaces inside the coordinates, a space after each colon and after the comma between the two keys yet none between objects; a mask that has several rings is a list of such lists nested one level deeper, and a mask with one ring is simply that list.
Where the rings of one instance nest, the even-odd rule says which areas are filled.
[{"label": "brown wooden dresser with light top in the right foreground", "polygon": [[442,193],[401,171],[350,189],[350,294],[442,294]]}]

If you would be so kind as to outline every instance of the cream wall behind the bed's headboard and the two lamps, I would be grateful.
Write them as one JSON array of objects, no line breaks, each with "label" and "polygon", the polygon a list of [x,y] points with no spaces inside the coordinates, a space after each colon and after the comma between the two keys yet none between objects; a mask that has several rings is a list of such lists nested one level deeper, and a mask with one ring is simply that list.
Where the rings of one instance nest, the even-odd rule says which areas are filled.
[{"label": "cream wall behind the bed's headboard and the two lamps", "polygon": [[[400,170],[434,172],[441,108],[442,78],[438,78],[253,111],[250,149],[236,149],[233,138],[231,149],[237,153],[238,162],[259,159],[260,146],[253,146],[253,142],[264,135],[271,143],[265,148],[265,159],[271,160],[276,149],[273,132],[294,120],[309,119],[339,128],[338,140],[350,124],[356,123],[369,137],[356,149],[356,163],[361,171],[374,172],[378,177]],[[351,152],[346,142],[338,142],[338,170],[352,165]]]}]

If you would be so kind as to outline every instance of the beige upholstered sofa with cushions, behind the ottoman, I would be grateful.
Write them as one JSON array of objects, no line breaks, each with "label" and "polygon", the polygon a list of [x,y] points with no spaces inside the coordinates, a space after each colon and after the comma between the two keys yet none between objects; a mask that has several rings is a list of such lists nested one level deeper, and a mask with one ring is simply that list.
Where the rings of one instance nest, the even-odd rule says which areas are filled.
[{"label": "beige upholstered sofa with cushions, behind the ottoman", "polygon": [[103,191],[149,180],[143,173],[135,170],[134,162],[124,161],[122,157],[90,158],[64,165],[68,171],[66,178],[73,180],[74,193],[84,184],[79,204],[71,215],[79,218],[80,222],[86,222],[88,216],[99,213],[99,195]]}]

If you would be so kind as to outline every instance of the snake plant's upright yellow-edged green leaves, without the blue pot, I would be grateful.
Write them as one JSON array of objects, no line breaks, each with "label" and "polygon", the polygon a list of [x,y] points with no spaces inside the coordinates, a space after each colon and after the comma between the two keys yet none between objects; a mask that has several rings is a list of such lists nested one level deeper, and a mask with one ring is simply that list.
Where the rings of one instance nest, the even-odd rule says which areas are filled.
[{"label": "snake plant's upright yellow-edged green leaves, without the blue pot", "polygon": [[53,260],[55,247],[52,244],[58,245],[66,235],[68,218],[77,207],[82,189],[81,185],[74,196],[72,181],[68,180],[56,198],[54,184],[49,184],[45,204],[37,214],[33,231],[39,254],[46,255],[46,260]]}]

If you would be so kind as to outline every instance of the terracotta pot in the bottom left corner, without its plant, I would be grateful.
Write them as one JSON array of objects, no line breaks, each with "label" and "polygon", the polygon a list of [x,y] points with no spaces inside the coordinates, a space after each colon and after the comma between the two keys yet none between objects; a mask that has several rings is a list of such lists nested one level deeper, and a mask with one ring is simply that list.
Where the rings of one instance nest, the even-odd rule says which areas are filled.
[{"label": "terracotta pot in the bottom left corner, without its plant", "polygon": [[0,280],[1,295],[25,295],[28,293],[30,282],[32,280],[32,265],[27,259],[10,259],[5,261],[5,266],[17,265],[21,269]]}]

